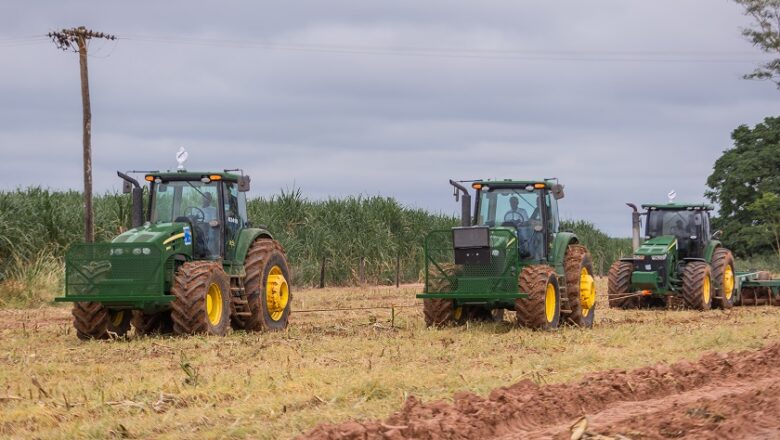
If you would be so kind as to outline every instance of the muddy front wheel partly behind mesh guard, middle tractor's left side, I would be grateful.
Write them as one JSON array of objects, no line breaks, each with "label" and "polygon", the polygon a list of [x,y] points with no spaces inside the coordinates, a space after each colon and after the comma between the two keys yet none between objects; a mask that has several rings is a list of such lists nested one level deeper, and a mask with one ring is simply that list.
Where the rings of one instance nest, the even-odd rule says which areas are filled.
[{"label": "muddy front wheel partly behind mesh guard, middle tractor's left side", "polygon": [[[453,281],[457,275],[457,266],[452,263],[441,265],[442,273],[435,267],[428,271],[428,293],[452,292],[457,288]],[[455,302],[445,298],[423,299],[423,317],[426,327],[444,327],[447,324],[464,323],[467,319],[463,307],[455,307]]]}]

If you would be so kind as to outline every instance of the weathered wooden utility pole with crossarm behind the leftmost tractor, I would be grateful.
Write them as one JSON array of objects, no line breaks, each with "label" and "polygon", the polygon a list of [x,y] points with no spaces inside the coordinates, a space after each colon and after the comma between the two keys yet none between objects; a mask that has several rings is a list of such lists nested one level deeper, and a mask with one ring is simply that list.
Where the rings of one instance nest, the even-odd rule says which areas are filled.
[{"label": "weathered wooden utility pole with crossarm behind the leftmost tractor", "polygon": [[87,71],[87,42],[92,38],[116,40],[113,35],[94,32],[84,26],[49,32],[49,38],[58,49],[79,53],[81,66],[81,104],[84,108],[84,241],[95,241],[95,222],[92,210],[92,109],[89,104],[89,74]]}]

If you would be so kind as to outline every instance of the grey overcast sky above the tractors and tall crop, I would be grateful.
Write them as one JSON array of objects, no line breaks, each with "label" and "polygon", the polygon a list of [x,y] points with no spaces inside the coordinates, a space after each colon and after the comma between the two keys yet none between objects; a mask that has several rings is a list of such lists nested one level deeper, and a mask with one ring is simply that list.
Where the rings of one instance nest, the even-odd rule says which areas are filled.
[{"label": "grey overcast sky above the tractors and tall crop", "polygon": [[96,191],[115,170],[242,167],[253,195],[394,196],[558,177],[562,215],[630,234],[624,202],[700,200],[730,133],[780,113],[730,0],[16,1],[0,5],[0,189],[79,189],[89,58]]}]

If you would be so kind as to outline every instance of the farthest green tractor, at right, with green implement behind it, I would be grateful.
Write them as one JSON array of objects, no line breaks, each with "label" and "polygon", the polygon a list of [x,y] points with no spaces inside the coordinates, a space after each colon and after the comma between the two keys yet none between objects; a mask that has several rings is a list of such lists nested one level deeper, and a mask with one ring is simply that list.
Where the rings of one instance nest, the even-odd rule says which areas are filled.
[{"label": "farthest green tractor, at right, with green implement behind it", "polygon": [[[704,203],[645,204],[632,213],[634,255],[609,270],[609,305],[621,309],[677,307],[709,310],[779,304],[780,280],[768,272],[736,272],[734,256],[710,230]],[[640,240],[645,216],[644,242]]]}]

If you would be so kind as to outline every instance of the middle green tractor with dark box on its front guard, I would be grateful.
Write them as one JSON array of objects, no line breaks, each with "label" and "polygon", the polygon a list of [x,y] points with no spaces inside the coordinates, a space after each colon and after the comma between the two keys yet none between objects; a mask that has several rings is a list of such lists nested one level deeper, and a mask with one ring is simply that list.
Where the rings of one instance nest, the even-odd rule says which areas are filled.
[{"label": "middle green tractor with dark box on its front guard", "polygon": [[547,180],[478,180],[461,196],[461,225],[425,238],[427,326],[469,320],[502,320],[515,311],[517,324],[547,330],[561,323],[592,327],[596,287],[588,249],[571,232],[559,231],[563,186]]}]

